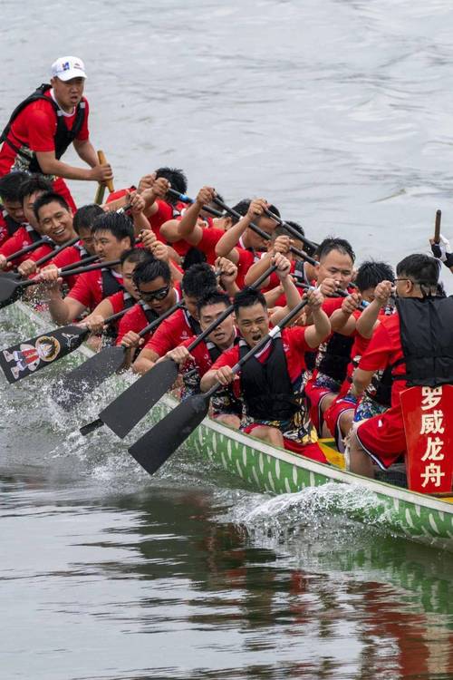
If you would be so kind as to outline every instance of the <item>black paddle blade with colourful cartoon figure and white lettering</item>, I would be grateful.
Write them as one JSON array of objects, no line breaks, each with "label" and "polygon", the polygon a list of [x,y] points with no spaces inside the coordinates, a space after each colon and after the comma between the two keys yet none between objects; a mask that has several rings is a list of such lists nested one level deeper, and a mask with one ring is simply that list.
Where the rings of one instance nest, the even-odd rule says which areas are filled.
[{"label": "black paddle blade with colourful cartoon figure and white lettering", "polygon": [[40,371],[53,364],[63,356],[71,354],[82,345],[88,335],[86,328],[78,325],[63,325],[45,335],[37,335],[23,343],[7,347],[0,351],[0,368],[8,383]]}]

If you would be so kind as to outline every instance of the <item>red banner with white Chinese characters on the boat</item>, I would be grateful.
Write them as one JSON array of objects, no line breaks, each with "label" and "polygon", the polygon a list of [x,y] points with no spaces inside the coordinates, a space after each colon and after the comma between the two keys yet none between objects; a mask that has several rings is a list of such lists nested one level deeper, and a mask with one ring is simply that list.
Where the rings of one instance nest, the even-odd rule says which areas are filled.
[{"label": "red banner with white Chinese characters on the boat", "polygon": [[453,485],[453,385],[400,393],[411,491],[448,493]]}]

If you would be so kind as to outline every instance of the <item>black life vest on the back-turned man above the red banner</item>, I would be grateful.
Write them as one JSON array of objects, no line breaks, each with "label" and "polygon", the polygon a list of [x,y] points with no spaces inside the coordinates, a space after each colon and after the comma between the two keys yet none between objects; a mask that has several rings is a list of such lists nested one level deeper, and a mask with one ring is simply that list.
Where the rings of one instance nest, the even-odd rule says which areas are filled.
[{"label": "black life vest on the back-turned man above the red banner", "polygon": [[397,298],[400,339],[408,387],[453,384],[453,297]]}]

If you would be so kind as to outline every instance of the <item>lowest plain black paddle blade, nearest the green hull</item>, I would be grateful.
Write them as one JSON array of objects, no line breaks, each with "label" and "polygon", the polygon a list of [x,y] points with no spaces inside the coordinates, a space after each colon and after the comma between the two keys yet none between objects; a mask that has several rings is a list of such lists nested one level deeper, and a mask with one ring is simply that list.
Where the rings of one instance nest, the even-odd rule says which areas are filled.
[{"label": "lowest plain black paddle blade, nearest the green hull", "polygon": [[209,397],[205,394],[188,397],[140,437],[139,441],[130,447],[130,455],[149,474],[154,474],[198,427],[206,417],[208,408]]}]

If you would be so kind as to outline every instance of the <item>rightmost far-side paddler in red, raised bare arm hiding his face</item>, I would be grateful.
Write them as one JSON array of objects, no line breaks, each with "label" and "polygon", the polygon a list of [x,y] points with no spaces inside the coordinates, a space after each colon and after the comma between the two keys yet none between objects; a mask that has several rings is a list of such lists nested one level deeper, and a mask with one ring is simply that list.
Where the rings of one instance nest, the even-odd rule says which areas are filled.
[{"label": "rightmost far-side paddler in red, raised bare arm hiding his face", "polygon": [[[239,288],[245,285],[245,277],[248,269],[259,260],[261,253],[267,251],[268,240],[255,234],[250,228],[254,222],[266,234],[271,236],[275,231],[274,219],[265,217],[265,208],[270,209],[275,215],[280,215],[275,206],[270,206],[265,199],[242,200],[235,206],[237,212],[244,213],[242,219],[238,219],[233,227],[217,241],[216,254],[220,257],[228,257],[237,267],[236,283]],[[235,222],[235,219],[233,219]]]}]

